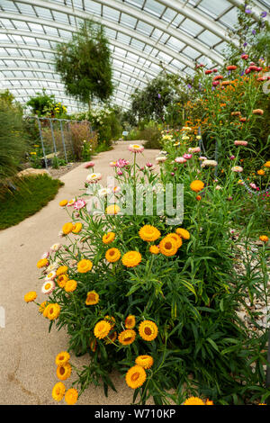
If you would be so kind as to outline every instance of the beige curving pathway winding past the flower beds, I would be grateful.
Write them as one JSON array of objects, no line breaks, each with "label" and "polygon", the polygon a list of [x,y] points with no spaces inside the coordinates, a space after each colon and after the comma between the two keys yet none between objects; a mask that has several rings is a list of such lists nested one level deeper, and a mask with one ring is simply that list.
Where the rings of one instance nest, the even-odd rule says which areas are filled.
[{"label": "beige curving pathway winding past the flower beds", "polygon": [[[110,161],[125,158],[131,162],[129,144],[129,141],[121,141],[111,151],[94,157],[94,170],[103,174],[103,180],[113,175]],[[138,155],[138,163],[155,163],[155,157],[157,150],[147,149],[143,155]],[[40,302],[46,299],[44,295],[43,300],[40,293],[40,271],[36,263],[44,251],[58,242],[58,231],[68,219],[58,202],[79,195],[87,174],[81,165],[63,175],[60,179],[65,185],[53,201],[17,226],[0,231],[0,404],[56,403],[51,398],[52,387],[58,382],[54,362],[57,354],[67,349],[67,335],[65,329],[59,332],[52,329],[49,334],[48,320],[39,315],[35,304],[26,304],[23,296],[36,291]],[[5,311],[4,329],[1,328],[1,307]],[[85,365],[88,360],[88,356],[76,358],[71,355],[74,365]],[[106,398],[102,387],[91,386],[78,403],[130,404],[133,392],[119,375],[114,374],[112,380],[117,393],[109,390]],[[72,376],[67,387],[69,381],[73,381]]]}]

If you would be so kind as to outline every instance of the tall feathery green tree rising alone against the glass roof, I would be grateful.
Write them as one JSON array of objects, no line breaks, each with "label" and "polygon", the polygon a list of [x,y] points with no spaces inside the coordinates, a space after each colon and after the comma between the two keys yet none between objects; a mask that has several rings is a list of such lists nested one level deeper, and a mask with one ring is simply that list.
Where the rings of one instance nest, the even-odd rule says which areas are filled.
[{"label": "tall feathery green tree rising alone against the glass roof", "polygon": [[113,91],[112,61],[103,26],[85,21],[72,40],[58,44],[55,69],[66,92],[89,105],[94,98],[104,102]]}]

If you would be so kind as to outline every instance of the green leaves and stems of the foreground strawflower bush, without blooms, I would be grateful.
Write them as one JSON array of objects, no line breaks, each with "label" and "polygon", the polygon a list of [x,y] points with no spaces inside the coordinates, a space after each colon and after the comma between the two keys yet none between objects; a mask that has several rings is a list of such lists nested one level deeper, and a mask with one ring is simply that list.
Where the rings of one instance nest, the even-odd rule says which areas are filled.
[{"label": "green leaves and stems of the foreground strawflower bush, without blooms", "polygon": [[[186,166],[178,164],[175,170],[175,157],[179,153],[184,151],[171,148],[159,174],[146,167],[143,175],[138,172],[134,154],[133,165],[122,167],[122,175],[115,177],[119,184],[131,184],[136,198],[138,195],[144,198],[144,205],[147,199],[139,191],[142,181],[150,184],[151,193],[160,189],[159,184],[163,187],[167,183],[184,184],[181,226],[189,230],[190,238],[182,240],[172,257],[161,254],[161,247],[157,255],[149,252],[149,245],[161,246],[161,238],[177,228],[166,223],[166,212],[166,216],[157,215],[155,201],[151,216],[100,216],[95,214],[94,205],[93,215],[85,208],[79,211],[79,216],[74,211],[72,220],[81,221],[83,229],[76,240],[67,238],[66,245],[50,257],[52,262],[59,260],[66,265],[68,277],[77,281],[76,290],[68,296],[58,286],[49,295],[49,302],[57,302],[61,308],[56,326],[67,329],[69,350],[77,356],[89,354],[88,366],[83,370],[74,367],[80,392],[90,383],[103,383],[104,392],[109,387],[114,389],[111,372],[126,374],[137,356],[148,354],[153,357],[154,365],[147,370],[146,382],[134,392],[133,401],[139,404],[145,404],[149,397],[159,405],[169,401],[181,404],[190,395],[210,398],[215,404],[260,401],[269,395],[263,367],[267,330],[260,328],[257,311],[251,306],[255,300],[267,305],[269,247],[259,246],[250,256],[257,216],[250,216],[247,228],[240,227],[238,242],[231,236],[231,226],[242,215],[239,202],[243,192],[237,184],[238,175],[229,172],[222,190],[217,190],[212,169],[202,168],[195,157]],[[194,179],[205,184],[200,192],[201,201],[197,201],[197,193],[190,187]],[[101,185],[93,184],[92,192],[87,195],[98,196],[100,188]],[[228,201],[229,196],[233,201]],[[125,202],[120,197],[121,209],[122,201]],[[263,208],[261,204],[258,212],[262,213]],[[144,225],[154,225],[160,231],[156,242],[139,237],[139,229]],[[109,230],[115,233],[115,239],[108,246],[103,242],[103,235]],[[139,251],[139,265],[123,266],[121,259],[110,264],[104,257],[111,247],[119,248],[121,257],[128,251]],[[239,251],[244,265],[241,272],[235,267]],[[69,266],[74,257],[77,261],[90,259],[92,270],[78,273],[76,266]],[[87,306],[85,299],[90,291],[99,294],[99,302]],[[239,319],[240,305],[247,308],[250,325],[259,330]],[[112,342],[109,337],[94,338],[98,321],[112,316],[115,325],[110,336],[114,332],[119,335],[129,315],[136,317],[136,338],[130,345],[121,345],[117,338]],[[139,335],[143,320],[157,324],[157,338],[147,341]],[[94,340],[96,350],[93,351],[90,344]]]}]

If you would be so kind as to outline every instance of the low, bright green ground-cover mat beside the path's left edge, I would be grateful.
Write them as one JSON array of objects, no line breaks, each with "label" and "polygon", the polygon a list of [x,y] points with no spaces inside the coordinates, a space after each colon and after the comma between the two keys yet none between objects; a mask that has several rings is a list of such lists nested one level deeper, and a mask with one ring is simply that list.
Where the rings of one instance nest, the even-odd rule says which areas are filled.
[{"label": "low, bright green ground-cover mat beside the path's left edge", "polygon": [[0,229],[17,225],[40,211],[58,193],[63,183],[49,175],[27,176],[14,181],[16,190],[5,191],[0,202]]}]

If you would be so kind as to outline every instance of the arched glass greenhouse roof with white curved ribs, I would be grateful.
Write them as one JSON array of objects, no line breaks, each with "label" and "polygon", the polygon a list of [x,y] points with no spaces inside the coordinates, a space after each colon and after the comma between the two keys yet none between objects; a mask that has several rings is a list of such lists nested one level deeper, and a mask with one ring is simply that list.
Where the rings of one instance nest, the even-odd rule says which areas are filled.
[{"label": "arched glass greenhouse roof with white curved ribs", "polygon": [[[254,18],[270,9],[256,0]],[[163,67],[193,75],[194,62],[222,64],[228,31],[244,0],[0,0],[0,90],[20,101],[47,94],[82,108],[65,94],[54,71],[54,49],[72,37],[86,18],[103,23],[112,50],[112,103],[129,108],[130,94]],[[267,16],[269,21],[269,14]]]}]

